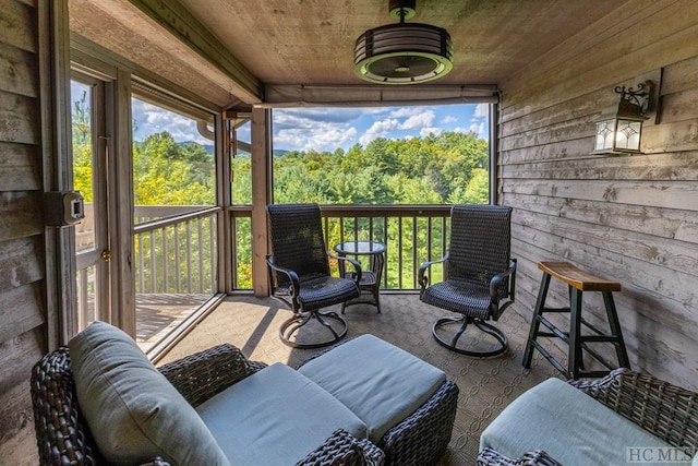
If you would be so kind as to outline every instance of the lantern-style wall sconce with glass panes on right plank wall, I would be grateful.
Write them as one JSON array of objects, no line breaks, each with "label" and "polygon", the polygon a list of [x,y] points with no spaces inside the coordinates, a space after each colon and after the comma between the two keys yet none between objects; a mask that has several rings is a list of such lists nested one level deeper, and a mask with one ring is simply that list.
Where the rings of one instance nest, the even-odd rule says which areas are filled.
[{"label": "lantern-style wall sconce with glass panes on right plank wall", "polygon": [[621,94],[617,107],[597,122],[597,143],[594,154],[639,154],[642,123],[649,117],[647,113],[654,109],[654,83],[646,81],[639,83],[637,89],[617,86],[616,94]]}]

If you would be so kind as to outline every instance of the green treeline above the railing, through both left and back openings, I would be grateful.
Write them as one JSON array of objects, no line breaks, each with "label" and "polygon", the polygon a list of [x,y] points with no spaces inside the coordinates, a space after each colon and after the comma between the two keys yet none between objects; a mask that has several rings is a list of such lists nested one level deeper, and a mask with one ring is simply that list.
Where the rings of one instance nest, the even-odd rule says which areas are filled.
[{"label": "green treeline above the railing, through both left and back openings", "polygon": [[[88,138],[74,134],[74,186],[91,202]],[[290,151],[274,157],[274,202],[320,204],[486,203],[488,141],[474,133],[380,138],[344,151]],[[231,202],[252,203],[251,160],[232,160]],[[167,132],[133,144],[135,205],[215,205],[215,164],[197,143]]]}]

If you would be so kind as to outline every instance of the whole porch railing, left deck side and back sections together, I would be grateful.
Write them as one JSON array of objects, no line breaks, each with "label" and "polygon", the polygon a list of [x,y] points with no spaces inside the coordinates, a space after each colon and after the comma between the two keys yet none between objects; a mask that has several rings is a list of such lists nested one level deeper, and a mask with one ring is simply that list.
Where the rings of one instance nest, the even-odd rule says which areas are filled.
[{"label": "whole porch railing, left deck side and back sections together", "polygon": [[[137,206],[136,292],[214,292],[218,212],[217,207],[192,212],[192,207]],[[232,227],[231,286],[251,289],[252,207],[232,206],[228,212]],[[322,213],[330,251],[334,244],[351,240],[373,240],[386,246],[382,289],[417,289],[420,264],[441,258],[448,244],[448,205],[324,205]],[[362,266],[368,267],[368,263]],[[436,266],[430,273],[440,275],[443,271]]]}]

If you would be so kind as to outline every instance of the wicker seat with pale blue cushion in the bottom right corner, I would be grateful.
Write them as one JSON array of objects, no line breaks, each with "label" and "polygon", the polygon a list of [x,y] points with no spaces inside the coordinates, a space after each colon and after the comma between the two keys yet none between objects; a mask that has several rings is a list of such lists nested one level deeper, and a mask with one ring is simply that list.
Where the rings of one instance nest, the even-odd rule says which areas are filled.
[{"label": "wicker seat with pale blue cushion in the bottom right corner", "polygon": [[698,393],[621,368],[522,394],[483,431],[478,464],[696,466],[697,452]]}]

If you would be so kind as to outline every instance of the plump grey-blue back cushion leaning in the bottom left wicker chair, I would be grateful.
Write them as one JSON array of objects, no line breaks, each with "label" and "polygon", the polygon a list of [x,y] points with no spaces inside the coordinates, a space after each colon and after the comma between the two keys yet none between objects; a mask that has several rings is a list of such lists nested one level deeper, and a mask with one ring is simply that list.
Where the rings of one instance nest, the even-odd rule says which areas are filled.
[{"label": "plump grey-blue back cushion leaning in the bottom left wicker chair", "polygon": [[93,322],[69,342],[80,408],[109,464],[161,456],[178,465],[228,465],[194,408],[121,330]]}]

